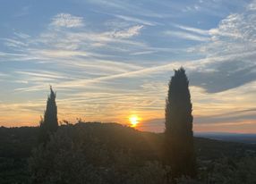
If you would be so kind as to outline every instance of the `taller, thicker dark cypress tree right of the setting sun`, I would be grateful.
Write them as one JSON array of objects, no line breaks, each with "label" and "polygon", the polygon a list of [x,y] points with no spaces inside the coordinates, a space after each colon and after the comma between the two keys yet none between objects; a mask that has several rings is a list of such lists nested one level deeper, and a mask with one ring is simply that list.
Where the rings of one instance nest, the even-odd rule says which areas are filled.
[{"label": "taller, thicker dark cypress tree right of the setting sun", "polygon": [[183,68],[175,71],[166,98],[166,164],[172,178],[196,176],[193,150],[192,103],[189,81]]}]

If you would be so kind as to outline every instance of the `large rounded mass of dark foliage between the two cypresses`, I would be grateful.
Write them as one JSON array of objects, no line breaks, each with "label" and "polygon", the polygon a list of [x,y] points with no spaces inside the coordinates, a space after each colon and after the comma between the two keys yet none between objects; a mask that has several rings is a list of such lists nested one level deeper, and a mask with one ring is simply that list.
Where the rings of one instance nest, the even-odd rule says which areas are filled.
[{"label": "large rounded mass of dark foliage between the two cypresses", "polygon": [[[116,123],[62,126],[31,156],[31,182],[164,184],[163,166],[150,162],[158,155],[148,152],[154,150],[149,139]],[[150,178],[141,179],[139,172]]]}]

